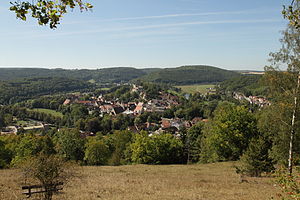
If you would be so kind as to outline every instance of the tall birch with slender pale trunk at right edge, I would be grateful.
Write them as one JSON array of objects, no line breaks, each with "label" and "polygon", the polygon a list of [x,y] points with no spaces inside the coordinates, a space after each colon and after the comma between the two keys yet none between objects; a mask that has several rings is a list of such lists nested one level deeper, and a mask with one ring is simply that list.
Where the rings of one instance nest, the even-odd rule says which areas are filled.
[{"label": "tall birch with slender pale trunk at right edge", "polygon": [[281,124],[287,126],[289,134],[288,169],[292,174],[295,134],[299,123],[300,88],[300,31],[289,26],[283,32],[282,48],[271,53],[271,66],[265,68],[265,79],[277,109],[282,110]]}]

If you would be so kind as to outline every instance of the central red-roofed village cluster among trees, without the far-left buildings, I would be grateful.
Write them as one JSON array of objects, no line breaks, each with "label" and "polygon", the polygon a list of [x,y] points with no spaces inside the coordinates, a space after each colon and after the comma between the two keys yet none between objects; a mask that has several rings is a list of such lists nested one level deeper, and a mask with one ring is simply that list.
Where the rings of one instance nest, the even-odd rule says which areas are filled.
[{"label": "central red-roofed village cluster among trees, without the far-left buildings", "polygon": [[[99,95],[98,97],[92,96],[89,100],[79,100],[80,95],[72,95],[67,98],[63,105],[79,104],[88,108],[90,114],[97,111],[100,116],[105,114],[112,116],[126,115],[130,118],[136,119],[143,113],[164,113],[167,109],[179,106],[179,97],[167,92],[159,92],[157,98],[147,99],[146,93],[142,86],[131,84],[131,93],[138,93],[142,101],[122,102],[118,98],[113,100],[107,100],[105,95]],[[171,132],[175,135],[179,133],[183,128],[188,129],[199,122],[208,122],[208,119],[201,117],[195,117],[192,120],[185,120],[183,118],[164,118],[162,117],[159,123],[145,122],[135,123],[134,126],[129,126],[128,130],[132,132],[140,132],[142,130],[148,131],[149,135],[161,134],[164,132]],[[81,131],[82,134],[87,136],[94,136],[95,133]]]}]

